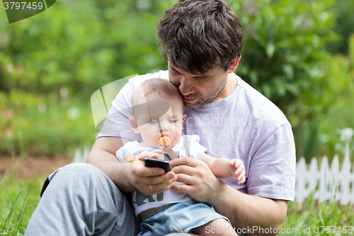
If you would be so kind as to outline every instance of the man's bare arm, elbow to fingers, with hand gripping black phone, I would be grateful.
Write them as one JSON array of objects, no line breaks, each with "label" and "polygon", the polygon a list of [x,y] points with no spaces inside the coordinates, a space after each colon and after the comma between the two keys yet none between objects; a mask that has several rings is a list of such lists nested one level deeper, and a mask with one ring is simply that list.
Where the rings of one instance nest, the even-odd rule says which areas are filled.
[{"label": "man's bare arm, elbow to fingers, with hand gripping black phone", "polygon": [[[120,147],[121,137],[98,137],[86,162],[101,169],[123,192],[139,190],[145,195],[152,195],[171,188],[176,180],[173,173],[163,174],[160,168],[145,167],[141,159],[122,163],[115,157]],[[154,191],[151,191],[150,185]]]}]

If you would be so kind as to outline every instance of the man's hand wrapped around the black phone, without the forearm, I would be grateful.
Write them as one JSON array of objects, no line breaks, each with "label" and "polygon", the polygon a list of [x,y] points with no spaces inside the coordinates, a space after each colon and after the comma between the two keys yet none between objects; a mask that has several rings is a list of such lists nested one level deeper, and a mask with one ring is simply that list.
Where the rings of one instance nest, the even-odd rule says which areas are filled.
[{"label": "man's hand wrapped around the black phone, without the forearm", "polygon": [[159,154],[154,152],[141,152],[135,160],[129,164],[130,181],[134,188],[144,195],[162,193],[171,189],[176,181],[176,174],[169,172],[164,174],[164,169],[159,167],[145,167],[145,157],[158,158]]}]

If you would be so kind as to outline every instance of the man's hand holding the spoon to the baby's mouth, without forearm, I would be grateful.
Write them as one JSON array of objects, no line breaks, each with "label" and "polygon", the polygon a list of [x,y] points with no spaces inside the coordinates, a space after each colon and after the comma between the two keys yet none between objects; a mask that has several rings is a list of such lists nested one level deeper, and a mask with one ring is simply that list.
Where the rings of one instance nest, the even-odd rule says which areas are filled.
[{"label": "man's hand holding the spoon to the baby's mouth, without forearm", "polygon": [[177,181],[184,184],[173,184],[174,191],[187,193],[195,201],[212,203],[217,198],[218,187],[222,184],[212,174],[205,162],[190,157],[173,159],[170,162],[171,172]]}]

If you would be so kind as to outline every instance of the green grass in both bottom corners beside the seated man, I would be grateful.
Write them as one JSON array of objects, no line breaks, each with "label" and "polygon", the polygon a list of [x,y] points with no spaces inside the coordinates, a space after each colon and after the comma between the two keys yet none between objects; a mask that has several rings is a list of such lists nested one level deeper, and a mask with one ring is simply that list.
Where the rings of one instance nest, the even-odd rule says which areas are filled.
[{"label": "green grass in both bottom corners beside the seated man", "polygon": [[[26,180],[6,174],[1,179],[0,235],[24,234],[40,200],[39,193],[45,178]],[[347,232],[343,226],[347,226]],[[278,235],[352,235],[350,230],[354,232],[354,206],[317,203],[310,196],[301,207],[296,202],[288,203],[287,217]]]}]

